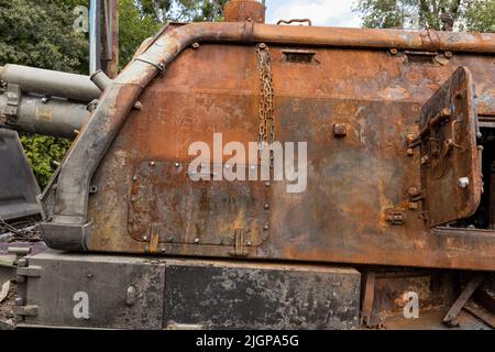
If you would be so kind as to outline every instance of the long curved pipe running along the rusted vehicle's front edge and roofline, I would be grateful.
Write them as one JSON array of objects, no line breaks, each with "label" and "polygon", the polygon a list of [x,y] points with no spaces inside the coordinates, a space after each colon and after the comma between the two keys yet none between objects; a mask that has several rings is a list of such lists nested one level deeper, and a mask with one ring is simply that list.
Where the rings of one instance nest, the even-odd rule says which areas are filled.
[{"label": "long curved pipe running along the rusted vehicle's front edge and roofline", "polygon": [[183,50],[200,42],[495,53],[495,34],[292,28],[252,22],[193,23],[177,28],[157,37],[106,90],[92,118],[62,165],[53,222],[45,224],[45,235],[55,235],[59,230],[81,237],[67,238],[67,243],[86,243],[89,183],[106,151],[150,81]]}]

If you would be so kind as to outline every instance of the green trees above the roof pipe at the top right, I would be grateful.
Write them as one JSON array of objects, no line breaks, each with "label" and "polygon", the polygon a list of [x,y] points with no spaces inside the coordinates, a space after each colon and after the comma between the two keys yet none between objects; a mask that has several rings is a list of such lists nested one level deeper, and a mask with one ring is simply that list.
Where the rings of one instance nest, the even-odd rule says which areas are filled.
[{"label": "green trees above the roof pipe at the top right", "polygon": [[495,0],[358,0],[367,28],[494,32]]}]

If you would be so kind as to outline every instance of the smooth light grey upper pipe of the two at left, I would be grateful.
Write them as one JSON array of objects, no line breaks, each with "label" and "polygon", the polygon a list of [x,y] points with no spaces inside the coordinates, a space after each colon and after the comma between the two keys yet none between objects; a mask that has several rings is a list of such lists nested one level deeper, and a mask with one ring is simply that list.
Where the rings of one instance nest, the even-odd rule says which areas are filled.
[{"label": "smooth light grey upper pipe of the two at left", "polygon": [[0,80],[21,86],[24,92],[90,102],[101,96],[88,76],[20,65],[0,68]]}]

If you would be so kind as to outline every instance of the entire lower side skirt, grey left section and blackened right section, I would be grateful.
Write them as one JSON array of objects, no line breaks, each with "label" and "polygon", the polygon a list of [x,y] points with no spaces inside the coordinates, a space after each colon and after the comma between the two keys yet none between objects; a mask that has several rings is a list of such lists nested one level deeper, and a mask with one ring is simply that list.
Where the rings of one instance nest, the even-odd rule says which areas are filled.
[{"label": "entire lower side skirt, grey left section and blackened right section", "polygon": [[47,251],[18,270],[19,326],[102,329],[353,329],[353,268],[78,255]]}]

